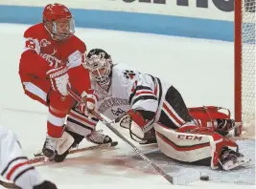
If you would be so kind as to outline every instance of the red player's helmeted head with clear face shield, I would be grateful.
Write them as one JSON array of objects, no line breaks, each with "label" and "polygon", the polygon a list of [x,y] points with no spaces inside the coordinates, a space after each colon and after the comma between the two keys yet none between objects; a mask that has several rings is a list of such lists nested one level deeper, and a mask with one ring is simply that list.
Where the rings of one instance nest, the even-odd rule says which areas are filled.
[{"label": "red player's helmeted head with clear face shield", "polygon": [[68,39],[75,33],[75,23],[71,12],[63,5],[47,5],[43,10],[43,23],[52,38],[57,41]]}]

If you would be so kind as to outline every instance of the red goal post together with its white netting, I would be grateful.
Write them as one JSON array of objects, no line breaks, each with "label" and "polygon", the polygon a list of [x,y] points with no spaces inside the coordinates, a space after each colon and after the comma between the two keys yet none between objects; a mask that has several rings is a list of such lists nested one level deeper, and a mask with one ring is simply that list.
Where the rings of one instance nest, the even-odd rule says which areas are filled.
[{"label": "red goal post together with its white netting", "polygon": [[235,3],[235,119],[255,127],[255,0]]}]

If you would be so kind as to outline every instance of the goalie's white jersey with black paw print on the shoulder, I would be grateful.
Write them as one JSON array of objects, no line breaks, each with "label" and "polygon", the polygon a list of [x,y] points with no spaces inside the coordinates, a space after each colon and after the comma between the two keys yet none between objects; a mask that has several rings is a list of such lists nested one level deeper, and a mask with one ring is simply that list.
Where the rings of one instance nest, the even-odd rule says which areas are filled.
[{"label": "goalie's white jersey with black paw print on the shoulder", "polygon": [[139,73],[124,64],[113,66],[108,93],[92,81],[92,88],[99,94],[98,112],[114,119],[130,109],[151,111],[156,116],[149,125],[158,120],[169,87],[170,84],[162,83],[159,78]]}]

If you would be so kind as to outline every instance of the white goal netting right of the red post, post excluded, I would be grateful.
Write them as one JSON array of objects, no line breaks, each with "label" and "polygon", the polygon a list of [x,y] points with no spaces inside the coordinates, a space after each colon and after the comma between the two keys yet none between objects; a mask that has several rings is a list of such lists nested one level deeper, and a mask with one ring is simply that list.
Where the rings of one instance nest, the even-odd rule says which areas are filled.
[{"label": "white goal netting right of the red post, post excluded", "polygon": [[[242,120],[255,128],[255,0],[242,0]],[[250,134],[254,131],[248,131]]]}]

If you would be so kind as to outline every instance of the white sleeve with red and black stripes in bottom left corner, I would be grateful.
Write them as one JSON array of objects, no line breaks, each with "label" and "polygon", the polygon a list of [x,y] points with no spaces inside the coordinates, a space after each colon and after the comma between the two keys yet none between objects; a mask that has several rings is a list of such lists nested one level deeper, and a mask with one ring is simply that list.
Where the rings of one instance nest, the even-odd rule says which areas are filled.
[{"label": "white sleeve with red and black stripes in bottom left corner", "polygon": [[43,182],[35,167],[23,155],[17,137],[0,126],[0,173],[21,188],[33,189]]}]

